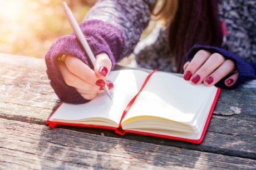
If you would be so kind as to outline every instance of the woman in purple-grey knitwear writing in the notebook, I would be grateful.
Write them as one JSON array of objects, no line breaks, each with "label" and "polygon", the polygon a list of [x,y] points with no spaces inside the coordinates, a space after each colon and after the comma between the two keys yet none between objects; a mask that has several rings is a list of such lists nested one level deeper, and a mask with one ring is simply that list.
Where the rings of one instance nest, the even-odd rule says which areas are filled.
[{"label": "woman in purple-grey knitwear writing in the notebook", "polygon": [[[168,33],[161,35],[169,43],[160,46],[168,50],[162,50],[165,55],[154,55],[159,49],[154,47],[159,45],[147,45],[145,53],[135,53],[139,65],[178,73],[184,69],[184,79],[194,85],[232,88],[256,78],[254,1],[240,0],[233,4],[228,0],[166,0],[163,4],[159,15],[169,26]],[[46,54],[48,78],[58,97],[79,104],[102,92],[103,80],[118,61],[134,51],[155,7],[155,0],[96,3],[81,23],[96,55],[94,70],[88,66],[73,34],[58,39]],[[225,27],[221,27],[225,24],[220,20],[227,24],[227,36]],[[107,85],[113,87],[111,82]]]}]

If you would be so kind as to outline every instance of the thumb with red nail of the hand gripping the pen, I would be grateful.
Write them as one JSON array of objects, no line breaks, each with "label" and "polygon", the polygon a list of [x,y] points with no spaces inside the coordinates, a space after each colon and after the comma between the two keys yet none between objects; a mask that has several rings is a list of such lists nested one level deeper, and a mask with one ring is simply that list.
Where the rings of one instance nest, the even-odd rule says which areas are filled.
[{"label": "thumb with red nail of the hand gripping the pen", "polygon": [[96,55],[96,63],[94,65],[94,72],[100,79],[105,79],[109,75],[112,62],[109,56],[105,53]]}]

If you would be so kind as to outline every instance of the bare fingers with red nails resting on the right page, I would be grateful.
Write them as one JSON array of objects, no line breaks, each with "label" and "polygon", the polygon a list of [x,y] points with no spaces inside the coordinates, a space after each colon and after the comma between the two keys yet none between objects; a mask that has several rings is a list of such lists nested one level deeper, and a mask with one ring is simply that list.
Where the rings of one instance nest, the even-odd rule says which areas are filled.
[{"label": "bare fingers with red nails resting on the right page", "polygon": [[[190,80],[192,84],[204,83],[212,86],[230,73],[237,70],[232,60],[225,59],[219,53],[211,54],[206,50],[199,50],[194,58],[186,62],[183,66],[185,80]],[[232,74],[225,80],[226,86],[232,86],[238,79],[238,72]]]}]

